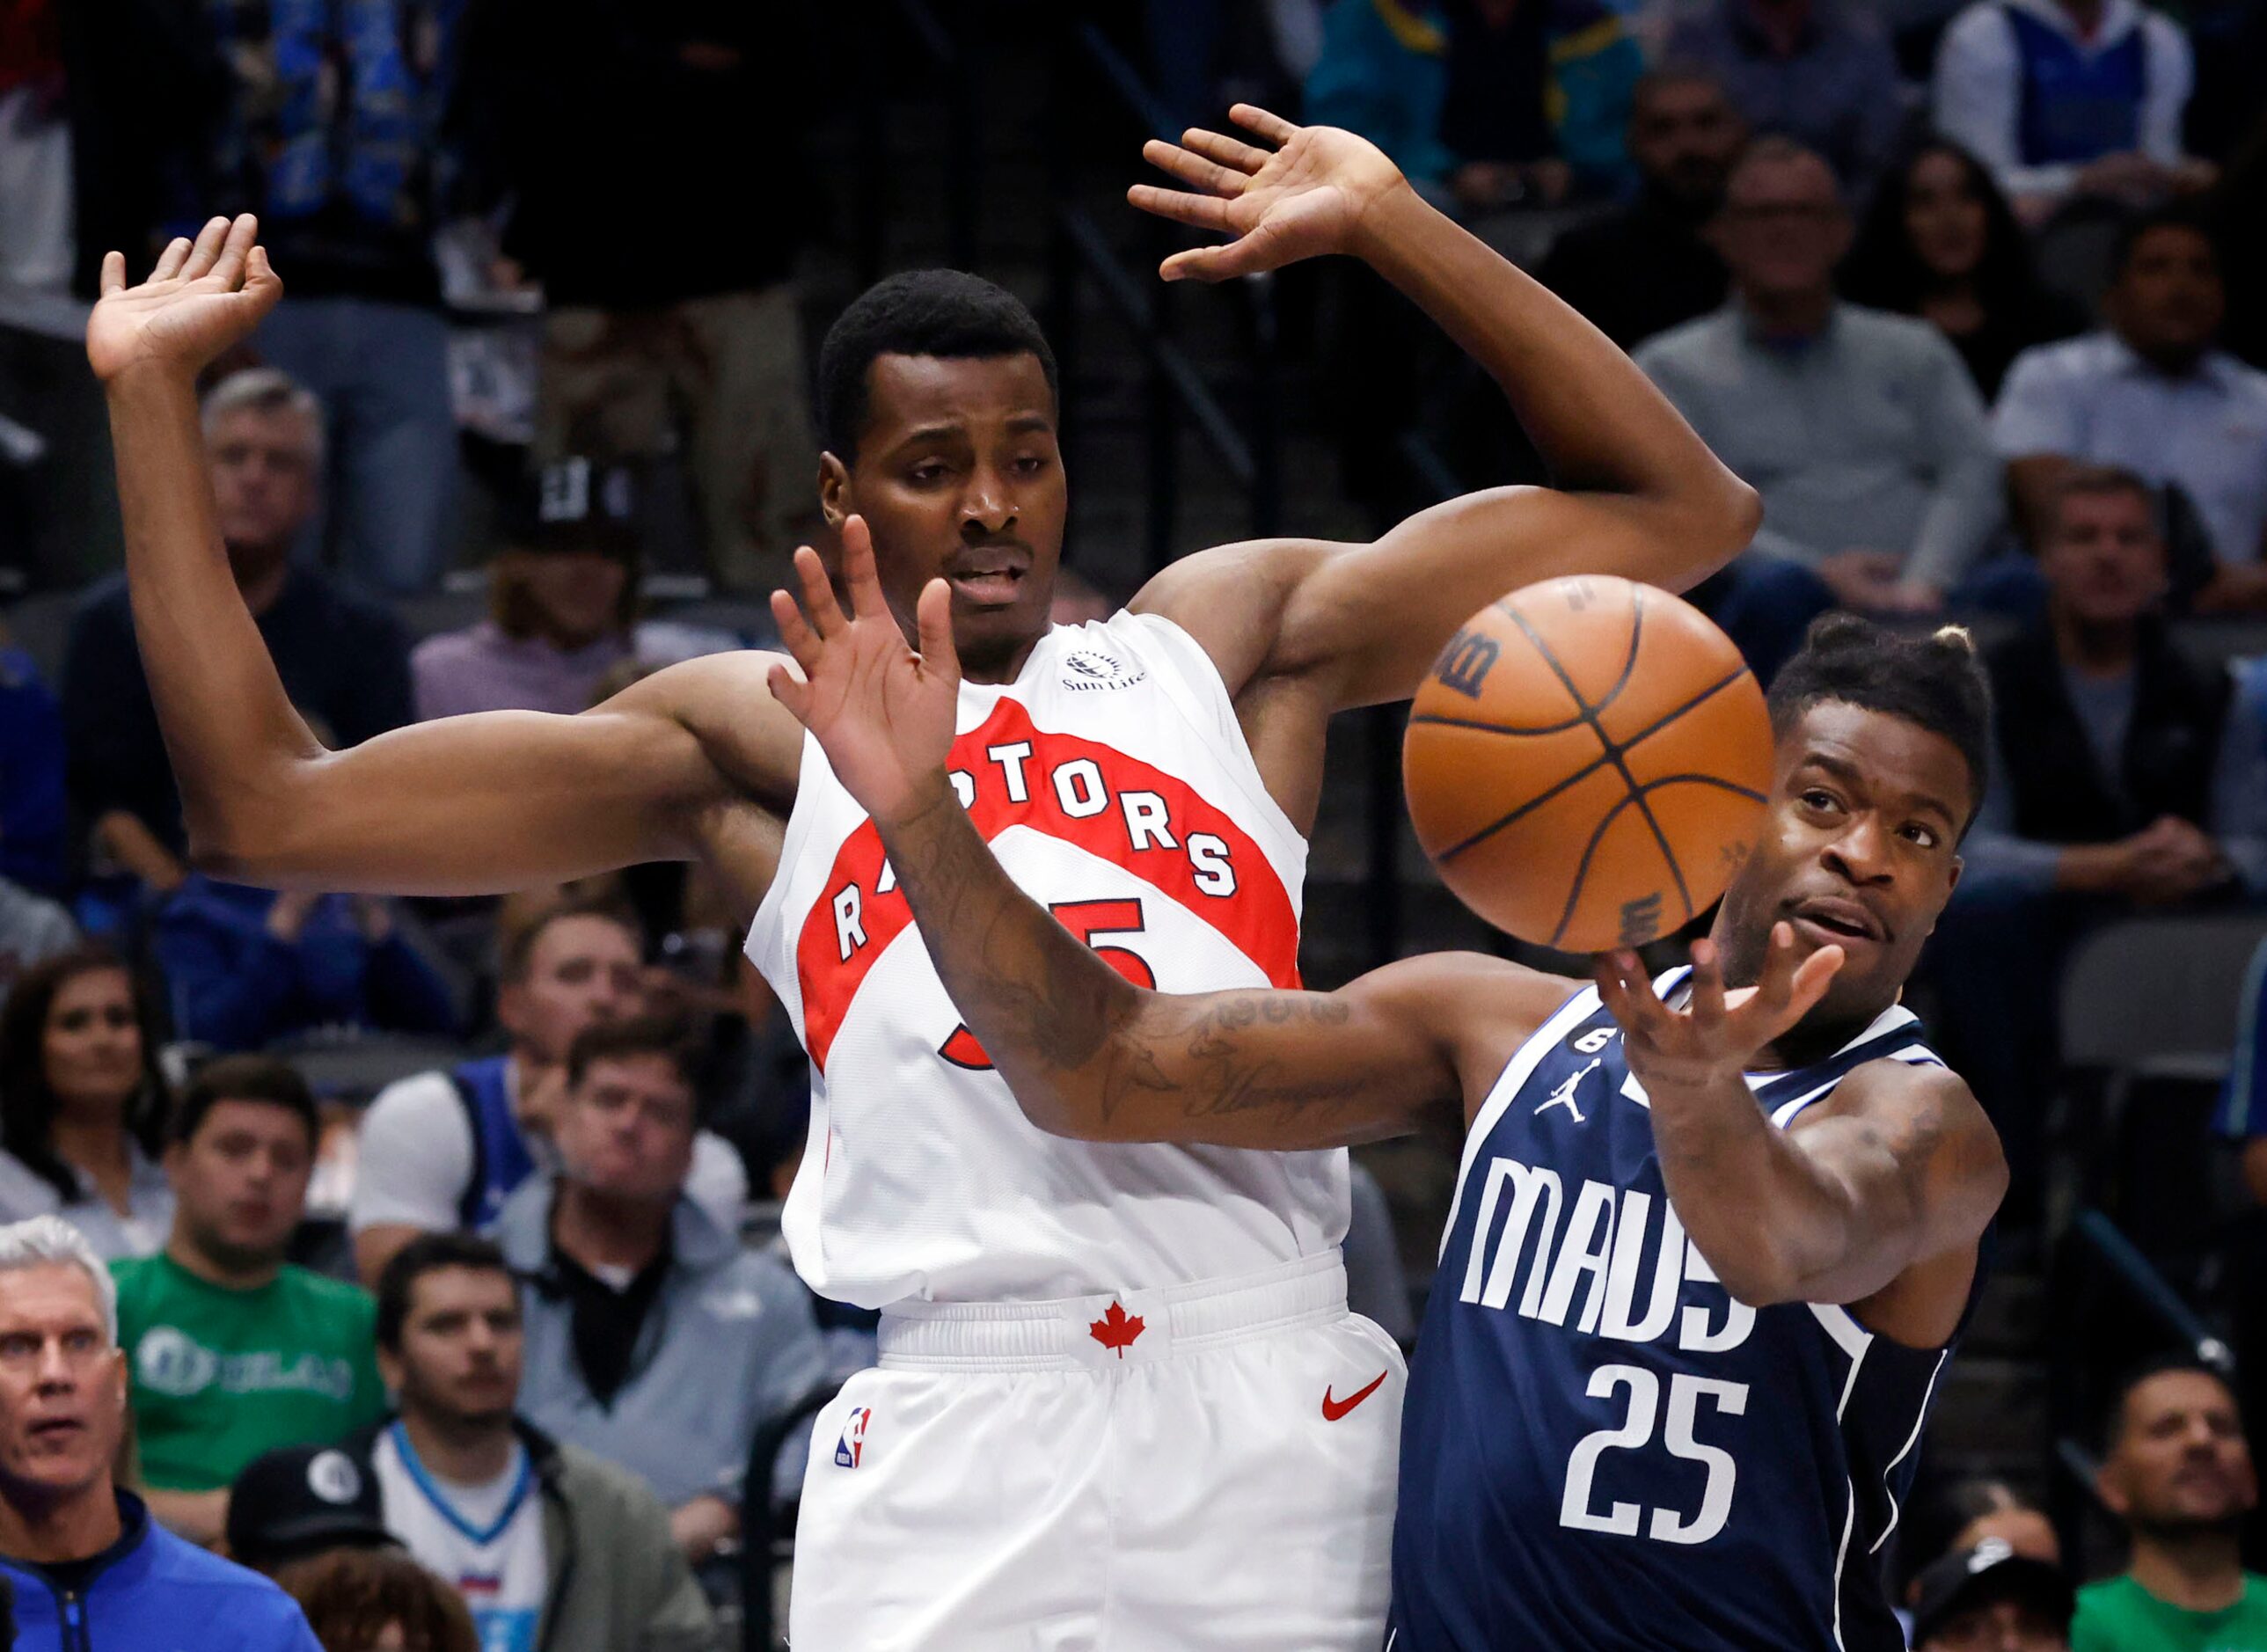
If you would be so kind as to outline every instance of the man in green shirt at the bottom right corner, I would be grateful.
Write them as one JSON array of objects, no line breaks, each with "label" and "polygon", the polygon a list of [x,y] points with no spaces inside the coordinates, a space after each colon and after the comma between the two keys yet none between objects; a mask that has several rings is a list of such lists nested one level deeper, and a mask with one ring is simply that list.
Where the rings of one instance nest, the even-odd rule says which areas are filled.
[{"label": "man in green shirt at the bottom right corner", "polygon": [[2133,1561],[2079,1591],[2074,1652],[2267,1652],[2267,1577],[2240,1557],[2258,1475],[2226,1380],[2185,1360],[2147,1366],[2106,1444],[2097,1484]]}]

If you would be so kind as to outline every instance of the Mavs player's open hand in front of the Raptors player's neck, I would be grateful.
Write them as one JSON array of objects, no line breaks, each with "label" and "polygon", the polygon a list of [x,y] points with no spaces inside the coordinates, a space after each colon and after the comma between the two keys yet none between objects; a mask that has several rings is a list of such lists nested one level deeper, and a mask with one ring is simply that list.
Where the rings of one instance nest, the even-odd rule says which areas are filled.
[{"label": "Mavs player's open hand in front of the Raptors player's neck", "polygon": [[771,669],[771,693],[827,752],[834,775],[875,820],[905,814],[920,782],[945,764],[959,709],[961,662],[952,650],[952,589],[929,580],[920,591],[920,653],[905,644],[873,571],[873,535],[864,517],[843,523],[843,582],[850,614],[834,601],[825,567],[809,546],[796,551],[803,603],[771,594],[780,641],[803,666]]}]

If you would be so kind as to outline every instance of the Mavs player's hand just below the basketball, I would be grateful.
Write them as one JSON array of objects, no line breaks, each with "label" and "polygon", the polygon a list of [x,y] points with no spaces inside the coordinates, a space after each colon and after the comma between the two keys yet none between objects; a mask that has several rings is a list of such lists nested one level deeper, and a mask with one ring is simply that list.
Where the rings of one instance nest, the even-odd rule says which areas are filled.
[{"label": "Mavs player's hand just below the basketball", "polygon": [[1841,947],[1818,947],[1795,961],[1795,931],[1773,925],[1764,977],[1723,990],[1714,940],[1693,943],[1691,999],[1673,1011],[1653,993],[1635,952],[1601,952],[1598,997],[1621,1022],[1630,1072],[1653,1090],[1705,1090],[1741,1072],[1773,1038],[1786,1033],[1825,995],[1843,963]]}]

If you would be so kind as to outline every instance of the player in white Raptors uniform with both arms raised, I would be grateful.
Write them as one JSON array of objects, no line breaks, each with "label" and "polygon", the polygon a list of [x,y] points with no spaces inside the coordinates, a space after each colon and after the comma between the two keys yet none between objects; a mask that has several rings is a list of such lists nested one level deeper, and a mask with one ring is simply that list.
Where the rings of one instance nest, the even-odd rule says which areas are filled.
[{"label": "player in white Raptors uniform with both arms raised", "polygon": [[[1045,340],[973,281],[884,283],[821,358],[821,501],[911,635],[943,578],[966,666],[954,770],[1013,877],[1124,974],[1290,983],[1324,725],[1406,698],[1455,623],[1580,569],[1684,587],[1755,494],[1603,335],[1428,208],[1365,140],[1254,109],[1136,188],[1224,231],[1168,279],[1365,258],[1503,388],[1562,487],[1437,505],[1376,544],[1177,562],[1050,630],[1065,480]],[[592,233],[635,236],[635,222]],[[1399,1360],[1349,1319],[1338,1151],[1088,1147],[1034,1131],[959,1027],[877,838],[773,698],[696,659],[583,716],[485,714],[324,750],[229,580],[195,376],[279,295],[215,220],[88,322],[136,630],[193,857],[306,888],[483,893],[698,859],[753,918],[814,1056],[796,1264],[884,1310],[882,1369],[818,1421],[793,1641],[1374,1647]],[[1036,807],[1034,807],[1036,800]]]}]

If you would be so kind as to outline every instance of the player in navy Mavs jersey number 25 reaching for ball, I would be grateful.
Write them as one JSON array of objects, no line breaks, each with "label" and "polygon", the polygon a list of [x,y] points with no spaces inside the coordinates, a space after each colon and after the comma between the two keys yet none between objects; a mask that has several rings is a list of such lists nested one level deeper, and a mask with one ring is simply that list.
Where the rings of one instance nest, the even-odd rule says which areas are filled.
[{"label": "player in navy Mavs jersey number 25 reaching for ball", "polygon": [[[945,591],[907,650],[805,553],[773,693],[882,827],[968,1027],[1043,1129],[1306,1149],[1462,1108],[1410,1378],[1390,1652],[1900,1652],[1879,1575],[2006,1190],[1900,1006],[1959,882],[1988,691],[1965,635],[1814,628],[1761,838],[1689,970],[1469,954],[1338,993],[1149,993],[1000,870],[943,773]],[[807,614],[807,619],[805,619]],[[1315,1394],[1356,1410],[1385,1371]]]}]

